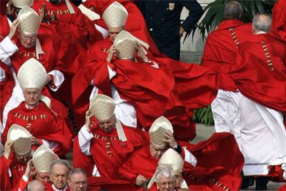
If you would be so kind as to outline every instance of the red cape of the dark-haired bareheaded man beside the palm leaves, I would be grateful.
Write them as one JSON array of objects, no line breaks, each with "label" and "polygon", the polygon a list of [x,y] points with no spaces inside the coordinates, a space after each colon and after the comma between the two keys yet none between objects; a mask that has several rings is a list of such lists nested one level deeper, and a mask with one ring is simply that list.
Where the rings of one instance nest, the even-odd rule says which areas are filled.
[{"label": "red cape of the dark-haired bareheaded man beside the palm leaves", "polygon": [[220,89],[236,91],[237,87],[229,77],[235,63],[237,48],[252,34],[251,24],[232,19],[222,21],[218,28],[207,37],[202,56],[202,66],[220,73]]}]

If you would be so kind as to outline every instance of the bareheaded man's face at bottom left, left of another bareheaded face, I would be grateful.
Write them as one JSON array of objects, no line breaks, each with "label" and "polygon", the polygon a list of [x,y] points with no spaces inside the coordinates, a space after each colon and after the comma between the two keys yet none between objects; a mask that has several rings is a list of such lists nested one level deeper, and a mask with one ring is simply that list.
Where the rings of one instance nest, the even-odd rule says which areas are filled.
[{"label": "bareheaded man's face at bottom left, left of another bareheaded face", "polygon": [[57,189],[63,189],[68,181],[68,167],[65,165],[54,165],[50,173],[50,180]]}]

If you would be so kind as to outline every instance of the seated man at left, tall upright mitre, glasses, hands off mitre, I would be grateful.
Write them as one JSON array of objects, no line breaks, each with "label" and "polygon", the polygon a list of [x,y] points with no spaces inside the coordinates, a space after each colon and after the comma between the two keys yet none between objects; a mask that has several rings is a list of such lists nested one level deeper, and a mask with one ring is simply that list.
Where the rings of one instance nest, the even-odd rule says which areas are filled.
[{"label": "seated man at left, tall upright mitre, glasses, hands off mitre", "polygon": [[34,150],[40,145],[46,145],[61,156],[70,149],[71,134],[64,118],[51,109],[50,99],[41,96],[41,89],[46,84],[47,78],[44,66],[34,58],[21,66],[18,79],[25,101],[8,113],[2,142],[6,142],[10,127],[17,124],[32,134]]}]

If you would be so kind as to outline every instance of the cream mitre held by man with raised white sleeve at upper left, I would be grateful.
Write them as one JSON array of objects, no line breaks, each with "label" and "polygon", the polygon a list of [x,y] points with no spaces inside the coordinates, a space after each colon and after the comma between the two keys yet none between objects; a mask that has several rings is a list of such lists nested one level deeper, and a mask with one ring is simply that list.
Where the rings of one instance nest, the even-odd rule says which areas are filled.
[{"label": "cream mitre held by man with raised white sleeve at upper left", "polygon": [[21,33],[35,34],[38,33],[41,19],[35,10],[29,6],[24,6],[18,15]]}]

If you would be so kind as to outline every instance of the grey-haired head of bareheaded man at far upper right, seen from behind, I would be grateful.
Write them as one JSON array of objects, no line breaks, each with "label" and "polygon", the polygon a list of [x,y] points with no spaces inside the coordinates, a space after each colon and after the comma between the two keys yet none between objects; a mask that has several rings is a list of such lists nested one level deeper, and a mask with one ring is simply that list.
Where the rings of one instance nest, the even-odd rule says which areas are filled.
[{"label": "grey-haired head of bareheaded man at far upper right, seen from behind", "polygon": [[252,26],[258,31],[268,33],[271,27],[271,17],[268,15],[254,15]]}]

